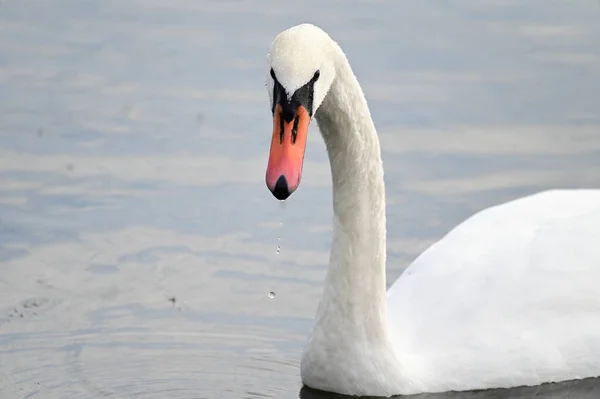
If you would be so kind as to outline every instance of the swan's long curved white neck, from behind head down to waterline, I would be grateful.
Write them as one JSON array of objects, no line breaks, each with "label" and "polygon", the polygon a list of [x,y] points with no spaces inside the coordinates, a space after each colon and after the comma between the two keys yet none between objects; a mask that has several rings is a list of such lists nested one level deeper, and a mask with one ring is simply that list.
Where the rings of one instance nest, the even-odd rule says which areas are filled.
[{"label": "swan's long curved white neck, from behind head down to waterline", "polygon": [[332,247],[301,373],[314,388],[385,395],[400,372],[387,324],[381,149],[362,89],[341,49],[334,55],[336,77],[315,114],[333,179]]}]

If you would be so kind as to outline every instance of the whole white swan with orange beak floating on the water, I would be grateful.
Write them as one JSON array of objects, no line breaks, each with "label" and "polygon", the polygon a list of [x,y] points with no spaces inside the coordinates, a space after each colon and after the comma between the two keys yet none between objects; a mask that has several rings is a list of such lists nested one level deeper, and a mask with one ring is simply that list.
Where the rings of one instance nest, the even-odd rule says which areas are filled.
[{"label": "whole white swan with orange beak floating on the water", "polygon": [[600,190],[479,211],[386,292],[381,149],[344,52],[301,24],[275,37],[267,61],[267,187],[279,200],[298,188],[313,117],[331,167],[332,245],[305,386],[389,397],[600,376]]}]

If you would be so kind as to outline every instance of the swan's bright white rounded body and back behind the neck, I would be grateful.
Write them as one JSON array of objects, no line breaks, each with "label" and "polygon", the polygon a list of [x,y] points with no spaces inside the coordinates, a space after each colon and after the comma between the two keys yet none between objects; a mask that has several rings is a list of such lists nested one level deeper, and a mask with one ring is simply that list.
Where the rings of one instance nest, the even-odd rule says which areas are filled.
[{"label": "swan's bright white rounded body and back behind the neck", "polygon": [[600,375],[600,190],[488,208],[388,292],[407,378],[429,390]]}]

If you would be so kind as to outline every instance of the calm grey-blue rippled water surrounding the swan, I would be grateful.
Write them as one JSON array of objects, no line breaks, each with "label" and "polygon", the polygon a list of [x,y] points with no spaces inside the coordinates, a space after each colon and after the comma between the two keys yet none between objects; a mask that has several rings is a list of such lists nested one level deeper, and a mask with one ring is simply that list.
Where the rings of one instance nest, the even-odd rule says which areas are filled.
[{"label": "calm grey-blue rippled water surrounding the swan", "polygon": [[595,0],[3,1],[2,398],[335,397],[299,380],[331,233],[315,126],[299,190],[264,184],[265,54],[305,21],[370,101],[390,282],[481,208],[598,186]]}]

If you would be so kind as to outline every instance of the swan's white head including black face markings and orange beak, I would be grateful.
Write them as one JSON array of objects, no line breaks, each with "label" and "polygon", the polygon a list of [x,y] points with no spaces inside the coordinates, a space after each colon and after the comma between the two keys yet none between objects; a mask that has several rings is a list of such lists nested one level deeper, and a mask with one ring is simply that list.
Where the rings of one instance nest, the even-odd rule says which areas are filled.
[{"label": "swan's white head including black face markings and orange beak", "polygon": [[332,50],[327,33],[310,24],[281,32],[271,44],[266,86],[273,138],[266,180],[279,200],[300,184],[308,126],[335,78]]}]

